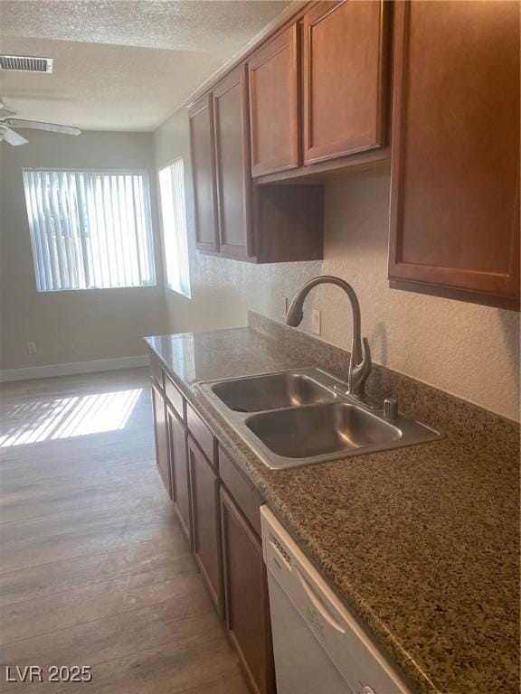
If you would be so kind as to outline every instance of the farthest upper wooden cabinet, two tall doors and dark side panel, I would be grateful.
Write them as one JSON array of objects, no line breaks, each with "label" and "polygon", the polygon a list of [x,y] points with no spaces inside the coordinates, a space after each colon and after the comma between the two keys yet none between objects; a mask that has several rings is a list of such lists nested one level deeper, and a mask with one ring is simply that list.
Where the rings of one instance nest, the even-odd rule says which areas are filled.
[{"label": "farthest upper wooden cabinet, two tall doors and dark side panel", "polygon": [[[251,179],[248,84],[246,65],[232,70],[213,88],[210,97],[201,98],[190,108],[190,136],[199,138],[192,145],[206,146],[207,156],[195,156],[194,187],[204,183],[204,194],[194,191],[197,248],[226,258],[256,263],[279,263],[323,258],[324,191],[321,184],[257,185]],[[208,106],[209,99],[213,108]],[[206,104],[203,111],[201,104]],[[201,120],[197,121],[196,118]],[[210,138],[205,125],[212,121]],[[214,152],[214,160],[213,153]],[[208,169],[214,161],[215,174]],[[201,167],[201,168],[200,168]],[[204,220],[211,209],[206,191],[216,182],[219,241],[209,239]],[[203,213],[197,213],[203,205]]]}]

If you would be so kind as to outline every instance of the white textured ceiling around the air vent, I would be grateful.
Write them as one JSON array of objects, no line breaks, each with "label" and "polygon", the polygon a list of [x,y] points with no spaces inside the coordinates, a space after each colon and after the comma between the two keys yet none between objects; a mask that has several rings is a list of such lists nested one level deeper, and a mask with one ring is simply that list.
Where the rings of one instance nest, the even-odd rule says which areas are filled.
[{"label": "white textured ceiling around the air vent", "polygon": [[3,0],[0,52],[54,59],[52,75],[0,72],[20,117],[154,130],[288,0]]}]

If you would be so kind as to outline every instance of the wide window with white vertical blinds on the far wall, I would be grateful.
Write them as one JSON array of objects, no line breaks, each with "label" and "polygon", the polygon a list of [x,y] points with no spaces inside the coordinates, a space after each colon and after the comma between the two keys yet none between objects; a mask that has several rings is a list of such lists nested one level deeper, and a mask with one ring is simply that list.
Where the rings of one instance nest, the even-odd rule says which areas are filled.
[{"label": "wide window with white vertical blinds on the far wall", "polygon": [[24,169],[39,292],[156,284],[146,174]]}]

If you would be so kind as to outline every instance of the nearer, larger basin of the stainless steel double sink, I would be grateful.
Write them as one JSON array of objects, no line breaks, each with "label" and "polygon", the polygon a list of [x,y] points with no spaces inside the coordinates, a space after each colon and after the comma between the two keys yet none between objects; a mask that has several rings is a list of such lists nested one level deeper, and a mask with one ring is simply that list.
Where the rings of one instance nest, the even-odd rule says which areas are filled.
[{"label": "nearer, larger basin of the stainless steel double sink", "polygon": [[265,412],[246,427],[276,455],[309,458],[393,444],[400,429],[346,402]]}]

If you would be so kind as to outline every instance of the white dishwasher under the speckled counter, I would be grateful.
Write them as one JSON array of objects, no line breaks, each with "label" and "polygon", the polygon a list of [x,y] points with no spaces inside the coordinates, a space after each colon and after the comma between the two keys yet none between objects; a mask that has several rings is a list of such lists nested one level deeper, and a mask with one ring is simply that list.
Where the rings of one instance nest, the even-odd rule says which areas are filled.
[{"label": "white dishwasher under the speckled counter", "polygon": [[409,694],[267,506],[261,523],[277,694]]}]

